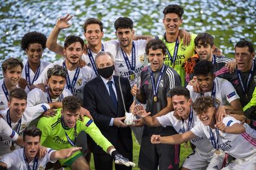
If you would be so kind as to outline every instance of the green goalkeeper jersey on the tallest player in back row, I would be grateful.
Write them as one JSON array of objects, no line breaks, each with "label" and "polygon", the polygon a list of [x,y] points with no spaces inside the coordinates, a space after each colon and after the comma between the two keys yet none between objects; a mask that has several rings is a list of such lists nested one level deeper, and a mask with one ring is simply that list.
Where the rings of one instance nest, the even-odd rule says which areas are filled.
[{"label": "green goalkeeper jersey on the tallest player in back row", "polygon": [[[190,40],[189,46],[184,46],[183,39],[181,39],[181,42],[179,42],[179,48],[178,48],[176,60],[174,63],[169,59],[167,53],[164,58],[164,64],[169,65],[169,67],[171,68],[174,68],[174,70],[176,70],[179,76],[181,77],[182,86],[185,85],[185,76],[186,76],[185,70],[184,70],[184,62],[186,62],[186,60],[189,59],[189,57],[195,54],[194,40],[196,36],[197,36],[196,34],[191,34],[191,40]],[[162,35],[159,35],[158,38],[164,42],[169,53],[173,57],[174,47],[176,42],[172,42],[172,43],[166,42],[166,40],[164,39],[164,36]]]}]

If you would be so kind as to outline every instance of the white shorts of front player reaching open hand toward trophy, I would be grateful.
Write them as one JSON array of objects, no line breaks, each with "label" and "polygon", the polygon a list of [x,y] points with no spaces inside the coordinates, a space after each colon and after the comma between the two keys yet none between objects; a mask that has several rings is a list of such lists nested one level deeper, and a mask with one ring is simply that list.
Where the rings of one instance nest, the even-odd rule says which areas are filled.
[{"label": "white shorts of front player reaching open hand toward trophy", "polygon": [[187,169],[221,169],[223,164],[225,153],[221,152],[220,155],[216,153],[203,153],[198,152],[197,148],[195,148],[194,152],[187,156],[187,159],[182,164],[182,167]]}]

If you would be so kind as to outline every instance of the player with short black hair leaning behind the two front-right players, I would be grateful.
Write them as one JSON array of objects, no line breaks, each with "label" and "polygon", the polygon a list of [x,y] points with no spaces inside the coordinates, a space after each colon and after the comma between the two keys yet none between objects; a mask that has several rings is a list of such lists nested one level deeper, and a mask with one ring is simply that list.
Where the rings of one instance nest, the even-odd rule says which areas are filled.
[{"label": "player with short black hair leaning behind the two front-right players", "polygon": [[[200,96],[211,96],[220,102],[221,107],[231,107],[232,110],[242,110],[239,95],[233,85],[223,78],[216,78],[213,64],[208,60],[201,60],[195,64],[194,75],[202,92],[195,92],[193,86],[187,85],[193,102]],[[230,108],[229,107],[229,108]]]}]

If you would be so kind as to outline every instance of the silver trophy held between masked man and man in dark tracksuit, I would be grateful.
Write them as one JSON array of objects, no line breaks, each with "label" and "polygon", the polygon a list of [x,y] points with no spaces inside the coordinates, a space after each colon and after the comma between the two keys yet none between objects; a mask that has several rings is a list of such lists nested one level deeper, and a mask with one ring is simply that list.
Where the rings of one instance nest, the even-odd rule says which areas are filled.
[{"label": "silver trophy held between masked man and man in dark tracksuit", "polygon": [[[132,78],[137,79],[136,84],[137,84],[137,87],[139,87],[138,86],[139,77],[138,77],[137,73],[135,73],[135,71],[133,71],[133,70],[128,70],[128,71],[133,73],[132,75],[129,75],[129,76],[130,77],[132,76]],[[122,94],[122,87],[121,87],[121,83],[120,83],[120,77],[122,76],[123,73],[124,73],[124,71],[121,72],[118,81],[119,81],[119,86],[120,86],[120,91],[121,91],[121,96],[122,96],[122,104],[124,105],[124,110],[126,111],[126,119],[124,119],[124,123],[126,125],[132,125],[132,124],[135,124],[134,120],[137,119],[137,117],[136,117],[136,115],[134,115],[134,114],[132,114],[132,113],[130,113],[129,111],[126,110],[124,95]],[[126,77],[126,76],[122,76],[122,77]],[[134,100],[136,100],[136,97],[135,97]]]}]

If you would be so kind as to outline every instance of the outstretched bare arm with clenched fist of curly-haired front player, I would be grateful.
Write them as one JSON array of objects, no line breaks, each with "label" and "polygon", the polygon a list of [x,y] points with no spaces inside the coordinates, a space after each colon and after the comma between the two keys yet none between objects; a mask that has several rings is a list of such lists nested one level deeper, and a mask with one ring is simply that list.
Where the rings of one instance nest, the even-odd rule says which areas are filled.
[{"label": "outstretched bare arm with clenched fist of curly-haired front player", "polygon": [[173,136],[160,136],[160,135],[152,135],[151,143],[152,144],[182,144],[187,142],[190,139],[197,137],[193,132],[188,131],[184,134],[176,134]]}]

